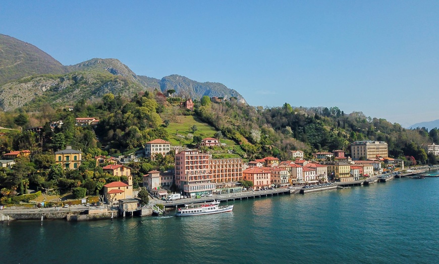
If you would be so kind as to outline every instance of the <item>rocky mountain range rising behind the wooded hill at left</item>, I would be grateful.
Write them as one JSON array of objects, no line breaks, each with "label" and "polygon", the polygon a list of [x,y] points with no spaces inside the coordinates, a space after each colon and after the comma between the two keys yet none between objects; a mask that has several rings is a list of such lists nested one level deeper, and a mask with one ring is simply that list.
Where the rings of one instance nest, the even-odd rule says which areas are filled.
[{"label": "rocky mountain range rising behind the wooded hill at left", "polygon": [[74,103],[108,92],[132,96],[140,91],[164,93],[171,89],[184,98],[236,97],[247,103],[237,91],[221,83],[199,83],[179,75],[161,80],[139,76],[114,58],[93,58],[65,66],[30,43],[0,34],[0,109],[4,111],[41,102]]}]

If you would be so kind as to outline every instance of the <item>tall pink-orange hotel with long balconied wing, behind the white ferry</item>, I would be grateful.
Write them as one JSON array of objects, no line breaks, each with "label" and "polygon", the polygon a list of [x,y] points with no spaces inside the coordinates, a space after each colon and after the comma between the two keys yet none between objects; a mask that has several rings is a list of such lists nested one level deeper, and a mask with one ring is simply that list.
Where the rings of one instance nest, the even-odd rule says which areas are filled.
[{"label": "tall pink-orange hotel with long balconied wing, behind the white ferry", "polygon": [[175,183],[190,196],[215,190],[215,182],[242,180],[242,159],[212,159],[198,150],[175,155]]}]

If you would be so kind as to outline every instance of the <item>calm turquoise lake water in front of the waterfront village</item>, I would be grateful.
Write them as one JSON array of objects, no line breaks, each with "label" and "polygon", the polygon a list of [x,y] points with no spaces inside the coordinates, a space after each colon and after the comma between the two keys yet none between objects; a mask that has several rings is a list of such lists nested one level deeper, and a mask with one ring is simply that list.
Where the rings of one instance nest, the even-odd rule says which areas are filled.
[{"label": "calm turquoise lake water in front of the waterfront village", "polygon": [[439,178],[234,202],[232,213],[0,227],[2,263],[437,263]]}]

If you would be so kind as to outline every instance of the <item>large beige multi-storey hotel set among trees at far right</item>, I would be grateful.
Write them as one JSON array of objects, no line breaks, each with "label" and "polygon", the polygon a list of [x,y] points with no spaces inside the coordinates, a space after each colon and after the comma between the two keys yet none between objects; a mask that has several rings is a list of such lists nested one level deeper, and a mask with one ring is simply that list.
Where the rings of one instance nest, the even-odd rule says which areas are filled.
[{"label": "large beige multi-storey hotel set among trees at far right", "polygon": [[360,157],[365,159],[376,159],[376,157],[387,158],[387,143],[383,141],[356,141],[351,144],[352,159],[358,160]]}]

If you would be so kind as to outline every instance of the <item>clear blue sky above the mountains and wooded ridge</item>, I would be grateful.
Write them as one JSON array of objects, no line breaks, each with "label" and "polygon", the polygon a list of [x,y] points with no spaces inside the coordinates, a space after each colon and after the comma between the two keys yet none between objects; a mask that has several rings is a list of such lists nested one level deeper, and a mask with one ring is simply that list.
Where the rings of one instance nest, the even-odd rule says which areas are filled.
[{"label": "clear blue sky above the mountains and wooded ridge", "polygon": [[219,82],[250,105],[439,119],[439,1],[2,1],[0,33],[64,65]]}]

